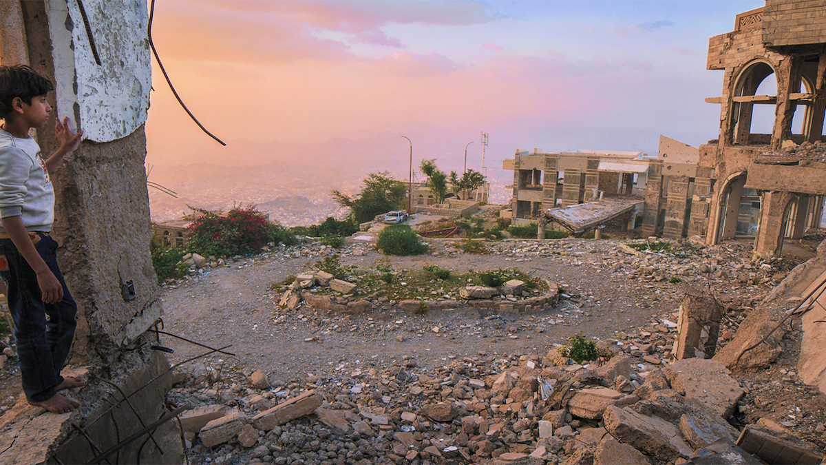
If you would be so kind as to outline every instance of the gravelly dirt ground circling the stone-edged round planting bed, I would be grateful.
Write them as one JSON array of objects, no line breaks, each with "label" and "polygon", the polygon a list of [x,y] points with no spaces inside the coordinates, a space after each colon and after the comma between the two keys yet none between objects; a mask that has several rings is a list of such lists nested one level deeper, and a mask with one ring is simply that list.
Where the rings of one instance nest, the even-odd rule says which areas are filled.
[{"label": "gravelly dirt ground circling the stone-edged round planting bed", "polygon": [[[802,261],[814,250],[819,237],[795,245],[795,255],[782,261],[783,271]],[[439,244],[440,242],[435,242]],[[547,242],[546,242],[547,243]],[[296,252],[275,251],[236,261],[230,266],[214,268],[203,275],[191,276],[164,288],[164,331],[178,334],[212,348],[226,348],[235,357],[211,354],[187,362],[182,369],[195,376],[211,371],[233,370],[249,374],[261,369],[268,373],[273,386],[305,378],[308,374],[324,377],[341,370],[389,367],[402,357],[411,357],[419,367],[442,367],[455,357],[468,355],[543,355],[554,343],[583,333],[589,338],[616,338],[648,324],[675,318],[679,302],[692,286],[706,285],[705,278],[682,276],[679,284],[668,280],[643,280],[634,272],[612,268],[617,250],[615,241],[557,241],[563,252],[553,256],[534,256],[526,247],[534,241],[499,242],[491,255],[450,254],[437,245],[438,256],[385,256],[366,246],[345,247],[343,264],[373,267],[392,265],[394,269],[420,269],[436,265],[456,272],[518,268],[530,276],[542,277],[563,285],[570,298],[553,309],[534,314],[480,314],[463,308],[408,314],[399,309],[379,308],[366,314],[328,314],[312,309],[286,310],[273,303],[279,295],[273,284],[309,270],[331,251],[301,256]],[[561,245],[559,245],[561,244]],[[443,247],[443,248],[439,248]],[[306,247],[310,248],[310,247]],[[748,261],[748,244],[730,247],[733,254]],[[704,256],[672,258],[675,266],[700,266],[711,261],[715,251]],[[299,255],[295,257],[295,255]],[[742,257],[741,257],[742,258]],[[730,258],[734,260],[735,258]],[[696,261],[696,263],[693,263]],[[706,275],[707,276],[707,275]],[[718,286],[715,292],[724,301],[752,302],[766,295],[776,284]],[[673,319],[676,321],[676,319]],[[172,348],[170,362],[183,362],[207,349],[178,338],[161,336],[160,345]],[[790,345],[791,347],[794,344]],[[793,354],[792,354],[793,355]],[[774,372],[786,364],[795,370],[793,357],[781,358]],[[778,372],[779,373],[779,372]],[[781,377],[781,374],[777,376]],[[760,376],[752,376],[754,394],[748,395],[749,420],[776,413],[779,419],[801,403],[801,390],[809,402],[807,414],[823,422],[824,395],[800,383],[780,382],[760,387]],[[748,380],[749,377],[742,379]],[[7,410],[20,395],[20,378],[14,359],[0,370],[0,409]],[[768,386],[768,385],[767,385]],[[762,395],[762,397],[759,397]],[[768,397],[767,397],[768,396]],[[760,415],[757,415],[760,414]],[[815,422],[807,429],[807,439],[824,447],[816,434]]]}]

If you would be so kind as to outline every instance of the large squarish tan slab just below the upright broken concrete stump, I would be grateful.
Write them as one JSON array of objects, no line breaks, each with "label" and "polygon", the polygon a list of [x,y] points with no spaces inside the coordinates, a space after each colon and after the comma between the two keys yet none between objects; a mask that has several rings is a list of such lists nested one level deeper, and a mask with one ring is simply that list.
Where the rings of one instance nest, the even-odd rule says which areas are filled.
[{"label": "large squarish tan slab just below the upright broken concrete stump", "polygon": [[744,394],[740,383],[729,376],[729,369],[714,360],[686,358],[665,370],[672,389],[700,400],[723,418],[733,413]]}]

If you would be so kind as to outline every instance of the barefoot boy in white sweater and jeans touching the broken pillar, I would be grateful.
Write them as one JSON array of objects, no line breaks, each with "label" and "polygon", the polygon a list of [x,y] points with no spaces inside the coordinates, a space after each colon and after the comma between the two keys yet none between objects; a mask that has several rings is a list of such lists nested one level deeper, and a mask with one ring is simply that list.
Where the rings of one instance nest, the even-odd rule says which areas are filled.
[{"label": "barefoot boy in white sweater and jeans touching the broken pillar", "polygon": [[55,218],[49,173],[74,151],[83,132],[73,134],[69,118],[58,119],[60,146],[42,158],[29,129],[49,119],[46,93],[54,89],[28,66],[0,66],[0,276],[8,285],[26,399],[65,413],[80,404],[57,391],[83,386],[83,381],[60,376],[77,326],[77,305],[55,260],[57,242],[49,235]]}]

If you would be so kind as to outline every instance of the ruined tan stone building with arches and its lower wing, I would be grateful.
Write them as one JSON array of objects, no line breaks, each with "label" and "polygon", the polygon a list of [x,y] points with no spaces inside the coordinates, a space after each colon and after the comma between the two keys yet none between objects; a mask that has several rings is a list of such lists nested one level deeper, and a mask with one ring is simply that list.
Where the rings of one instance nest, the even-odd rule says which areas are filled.
[{"label": "ruined tan stone building with arches and its lower wing", "polygon": [[[503,166],[514,170],[513,222],[603,195],[640,194],[643,237],[699,237],[709,245],[743,238],[757,255],[777,256],[784,239],[819,228],[826,195],[822,2],[769,0],[739,14],[734,31],[710,39],[707,66],[724,70],[723,95],[706,98],[721,105],[718,139],[698,149],[661,136],[656,157],[517,152]],[[758,113],[773,115],[770,133],[752,126]]]}]

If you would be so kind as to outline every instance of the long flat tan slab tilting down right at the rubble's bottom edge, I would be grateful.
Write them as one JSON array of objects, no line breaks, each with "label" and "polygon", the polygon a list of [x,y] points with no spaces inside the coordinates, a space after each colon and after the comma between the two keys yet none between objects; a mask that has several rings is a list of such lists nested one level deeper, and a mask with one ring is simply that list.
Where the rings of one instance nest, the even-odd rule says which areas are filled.
[{"label": "long flat tan slab tilting down right at the rubble's bottom edge", "polygon": [[603,415],[605,429],[616,439],[629,443],[662,461],[691,458],[693,449],[680,437],[673,424],[656,416],[640,415],[629,407],[609,405]]}]

